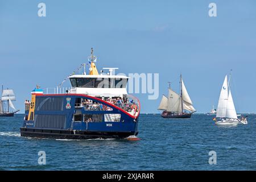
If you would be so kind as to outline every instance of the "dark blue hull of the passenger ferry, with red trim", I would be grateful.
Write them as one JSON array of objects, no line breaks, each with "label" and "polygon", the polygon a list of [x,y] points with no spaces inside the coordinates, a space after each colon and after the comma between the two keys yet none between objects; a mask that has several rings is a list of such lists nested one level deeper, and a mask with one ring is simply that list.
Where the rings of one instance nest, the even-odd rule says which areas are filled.
[{"label": "dark blue hull of the passenger ferry, with red trim", "polygon": [[[101,107],[93,110],[88,106],[75,107],[77,98],[92,100]],[[36,96],[33,114],[34,117],[23,121],[22,137],[93,139],[138,135],[138,115],[134,117],[115,105],[84,94]],[[89,115],[94,121],[74,119],[81,115],[84,118]],[[109,115],[118,115],[118,121],[109,121]]]}]

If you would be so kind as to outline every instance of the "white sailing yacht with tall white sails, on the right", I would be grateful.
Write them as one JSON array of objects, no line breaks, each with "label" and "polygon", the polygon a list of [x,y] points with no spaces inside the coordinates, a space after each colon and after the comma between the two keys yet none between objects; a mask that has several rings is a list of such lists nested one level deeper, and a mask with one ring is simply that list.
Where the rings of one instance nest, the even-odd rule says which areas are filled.
[{"label": "white sailing yacht with tall white sails, on the right", "polygon": [[237,118],[237,112],[234,106],[227,75],[225,76],[225,80],[221,88],[220,98],[218,100],[217,114],[216,118],[214,118],[214,121],[216,125],[222,126],[236,126],[238,122],[247,123],[246,118]]}]

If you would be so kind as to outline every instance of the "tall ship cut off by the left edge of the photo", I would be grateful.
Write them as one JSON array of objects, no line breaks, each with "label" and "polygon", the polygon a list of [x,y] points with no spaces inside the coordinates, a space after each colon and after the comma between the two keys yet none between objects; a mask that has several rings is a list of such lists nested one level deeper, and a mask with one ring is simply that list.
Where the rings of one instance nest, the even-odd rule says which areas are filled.
[{"label": "tall ship cut off by the left edge of the photo", "polygon": [[12,89],[3,89],[2,85],[2,96],[0,98],[0,117],[14,117],[15,113],[19,110],[15,109],[13,101],[16,100],[16,96]]}]

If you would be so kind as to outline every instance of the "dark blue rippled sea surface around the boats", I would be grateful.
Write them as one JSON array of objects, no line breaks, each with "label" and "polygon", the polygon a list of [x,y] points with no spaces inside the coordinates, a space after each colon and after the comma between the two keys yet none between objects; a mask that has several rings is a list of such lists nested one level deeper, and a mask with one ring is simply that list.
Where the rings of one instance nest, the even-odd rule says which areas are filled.
[{"label": "dark blue rippled sea surface around the boats", "polygon": [[[139,141],[20,137],[24,115],[0,118],[2,170],[251,170],[256,169],[256,115],[248,125],[215,126],[212,116],[163,119],[141,114]],[[46,152],[46,165],[38,152]],[[217,164],[210,165],[209,151]]]}]

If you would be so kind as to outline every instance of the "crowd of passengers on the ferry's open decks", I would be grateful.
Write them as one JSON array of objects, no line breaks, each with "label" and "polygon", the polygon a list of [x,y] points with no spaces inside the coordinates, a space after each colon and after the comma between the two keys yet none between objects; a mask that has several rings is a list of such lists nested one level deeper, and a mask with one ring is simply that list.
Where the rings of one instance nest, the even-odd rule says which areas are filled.
[{"label": "crowd of passengers on the ferry's open decks", "polygon": [[[125,100],[123,100],[123,98],[105,98],[105,101],[118,106],[127,112],[133,112],[134,114],[138,112],[138,106],[133,100],[129,100],[127,98]],[[82,98],[81,104],[85,110],[112,110],[111,107],[84,98]]]}]

